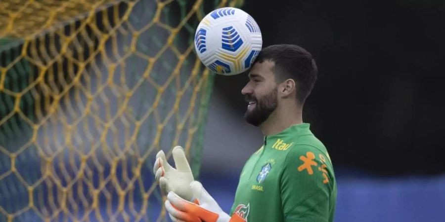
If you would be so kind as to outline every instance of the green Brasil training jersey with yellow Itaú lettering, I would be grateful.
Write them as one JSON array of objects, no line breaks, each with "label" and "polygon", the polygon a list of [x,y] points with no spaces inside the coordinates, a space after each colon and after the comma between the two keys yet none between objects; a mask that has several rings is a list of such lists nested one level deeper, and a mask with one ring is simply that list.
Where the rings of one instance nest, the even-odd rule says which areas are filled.
[{"label": "green Brasil training jersey with yellow Ita\u00fa lettering", "polygon": [[332,222],[337,198],[334,169],[310,124],[267,136],[247,160],[230,215],[247,222]]}]

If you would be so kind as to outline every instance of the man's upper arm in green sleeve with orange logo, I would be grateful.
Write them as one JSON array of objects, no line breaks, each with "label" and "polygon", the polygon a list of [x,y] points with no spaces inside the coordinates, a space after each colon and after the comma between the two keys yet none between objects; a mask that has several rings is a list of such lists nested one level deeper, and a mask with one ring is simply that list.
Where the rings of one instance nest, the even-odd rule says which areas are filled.
[{"label": "man's upper arm in green sleeve with orange logo", "polygon": [[286,222],[327,222],[331,164],[319,149],[299,145],[289,151],[281,175],[281,202]]}]

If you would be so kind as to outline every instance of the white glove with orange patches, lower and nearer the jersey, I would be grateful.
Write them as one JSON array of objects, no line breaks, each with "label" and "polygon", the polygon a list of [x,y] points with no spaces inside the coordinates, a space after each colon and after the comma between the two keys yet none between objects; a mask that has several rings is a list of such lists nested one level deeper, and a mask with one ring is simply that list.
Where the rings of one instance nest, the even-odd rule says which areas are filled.
[{"label": "white glove with orange patches, lower and nearer the jersey", "polygon": [[190,188],[195,200],[189,202],[174,192],[169,192],[165,201],[166,210],[174,222],[245,222],[237,214],[232,217],[224,213],[218,203],[201,183],[193,181]]}]

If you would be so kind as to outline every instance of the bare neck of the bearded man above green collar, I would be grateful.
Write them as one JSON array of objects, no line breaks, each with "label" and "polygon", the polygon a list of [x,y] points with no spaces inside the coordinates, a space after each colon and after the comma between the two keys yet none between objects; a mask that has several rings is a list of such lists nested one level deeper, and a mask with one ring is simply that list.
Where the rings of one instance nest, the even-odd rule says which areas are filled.
[{"label": "bare neck of the bearded man above green collar", "polygon": [[264,136],[277,134],[292,125],[303,123],[303,111],[296,103],[282,103],[260,125]]}]

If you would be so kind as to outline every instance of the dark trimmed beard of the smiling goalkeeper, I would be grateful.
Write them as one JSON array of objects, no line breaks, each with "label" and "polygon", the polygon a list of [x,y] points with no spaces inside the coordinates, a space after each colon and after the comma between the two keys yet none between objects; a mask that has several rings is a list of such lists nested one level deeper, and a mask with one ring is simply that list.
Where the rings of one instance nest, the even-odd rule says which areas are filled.
[{"label": "dark trimmed beard of the smiling goalkeeper", "polygon": [[246,95],[246,101],[255,101],[255,107],[253,110],[247,109],[244,113],[246,121],[254,126],[261,125],[269,117],[277,105],[277,88],[275,87],[269,94],[264,95],[262,98],[255,98],[252,95]]}]

